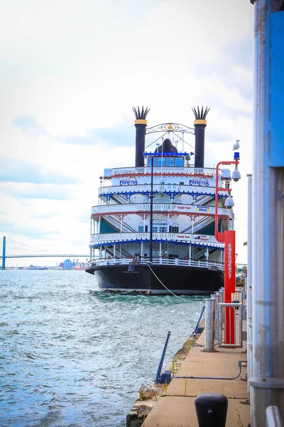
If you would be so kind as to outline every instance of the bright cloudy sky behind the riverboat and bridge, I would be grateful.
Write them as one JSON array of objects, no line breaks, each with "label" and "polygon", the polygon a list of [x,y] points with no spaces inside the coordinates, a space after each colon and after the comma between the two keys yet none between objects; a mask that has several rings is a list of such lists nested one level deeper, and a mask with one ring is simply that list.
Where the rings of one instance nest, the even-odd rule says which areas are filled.
[{"label": "bright cloudy sky behind the riverboat and bridge", "polygon": [[[0,76],[0,238],[11,239],[7,254],[89,253],[99,176],[134,164],[132,107],[151,107],[148,126],[192,127],[192,106],[208,105],[205,166],[232,159],[241,140],[241,180],[232,195],[237,262],[246,263],[249,0],[0,0]],[[7,260],[17,263],[55,259]]]}]

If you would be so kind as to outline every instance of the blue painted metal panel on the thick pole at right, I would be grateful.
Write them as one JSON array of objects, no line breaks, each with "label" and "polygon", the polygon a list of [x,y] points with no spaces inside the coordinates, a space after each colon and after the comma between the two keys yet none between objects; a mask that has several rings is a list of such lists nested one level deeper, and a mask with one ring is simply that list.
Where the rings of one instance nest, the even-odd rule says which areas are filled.
[{"label": "blue painted metal panel on the thick pole at right", "polygon": [[284,167],[283,107],[284,11],[271,14],[271,167]]}]

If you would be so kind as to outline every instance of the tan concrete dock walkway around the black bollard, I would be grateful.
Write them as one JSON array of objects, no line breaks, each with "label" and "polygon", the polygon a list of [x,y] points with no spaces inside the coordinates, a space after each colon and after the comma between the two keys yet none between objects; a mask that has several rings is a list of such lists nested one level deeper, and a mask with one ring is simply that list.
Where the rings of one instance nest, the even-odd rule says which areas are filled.
[{"label": "tan concrete dock walkway around the black bollard", "polygon": [[[177,376],[168,385],[147,416],[143,427],[198,427],[195,398],[199,394],[224,394],[229,399],[226,427],[246,427],[251,422],[250,406],[242,404],[247,397],[246,368],[241,368],[237,379],[193,379],[190,376],[234,377],[239,374],[239,360],[246,360],[244,348],[226,349],[216,345],[216,352],[204,352],[204,332],[197,340],[201,347],[192,347],[178,369]],[[215,342],[217,344],[217,342]],[[246,344],[244,342],[244,344]],[[244,364],[244,363],[243,363]]]}]

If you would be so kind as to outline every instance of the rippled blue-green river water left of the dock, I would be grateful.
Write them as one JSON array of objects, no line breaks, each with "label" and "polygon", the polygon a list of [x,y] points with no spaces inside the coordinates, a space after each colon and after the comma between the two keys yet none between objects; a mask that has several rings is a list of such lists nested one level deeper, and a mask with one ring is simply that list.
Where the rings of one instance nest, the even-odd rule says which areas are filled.
[{"label": "rippled blue-green river water left of the dock", "polygon": [[111,295],[84,271],[0,271],[0,425],[124,427],[202,297]]}]

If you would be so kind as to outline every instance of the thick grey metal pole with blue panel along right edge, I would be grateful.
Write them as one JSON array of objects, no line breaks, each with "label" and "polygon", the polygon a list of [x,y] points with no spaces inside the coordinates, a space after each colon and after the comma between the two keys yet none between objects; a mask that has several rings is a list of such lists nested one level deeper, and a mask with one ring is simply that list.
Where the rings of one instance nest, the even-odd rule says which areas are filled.
[{"label": "thick grey metal pole with blue panel along right edge", "polygon": [[[279,11],[275,10],[277,6]],[[277,0],[254,2],[253,378],[250,380],[253,427],[266,425],[268,406],[278,406],[284,415],[284,134],[280,108],[284,99],[284,15],[281,7],[282,1]],[[277,162],[273,159],[275,139],[279,147]]]}]

